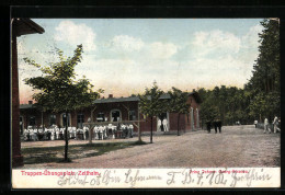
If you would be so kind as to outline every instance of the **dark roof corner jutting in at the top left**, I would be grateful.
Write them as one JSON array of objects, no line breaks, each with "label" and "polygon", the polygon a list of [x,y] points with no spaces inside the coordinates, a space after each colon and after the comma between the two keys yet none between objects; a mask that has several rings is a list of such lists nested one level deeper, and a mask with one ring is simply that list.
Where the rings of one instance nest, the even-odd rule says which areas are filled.
[{"label": "dark roof corner jutting in at the top left", "polygon": [[31,19],[13,19],[12,32],[15,33],[16,36],[21,36],[35,33],[43,34],[45,30]]}]

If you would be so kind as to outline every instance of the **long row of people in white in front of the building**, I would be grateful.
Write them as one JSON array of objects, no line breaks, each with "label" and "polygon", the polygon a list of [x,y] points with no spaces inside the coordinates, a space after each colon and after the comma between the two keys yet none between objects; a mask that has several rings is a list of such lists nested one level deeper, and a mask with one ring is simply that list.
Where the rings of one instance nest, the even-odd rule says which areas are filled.
[{"label": "long row of people in white in front of the building", "polygon": [[[50,126],[49,128],[33,128],[29,126],[27,129],[24,129],[23,136],[24,140],[60,140],[65,139],[66,128],[59,128],[56,125]],[[84,126],[81,128],[68,127],[68,138],[69,139],[89,139],[89,127]],[[99,125],[93,128],[93,137],[95,140],[103,140],[107,138],[132,138],[134,133],[134,126],[132,124],[119,124],[115,126],[113,124]]]}]

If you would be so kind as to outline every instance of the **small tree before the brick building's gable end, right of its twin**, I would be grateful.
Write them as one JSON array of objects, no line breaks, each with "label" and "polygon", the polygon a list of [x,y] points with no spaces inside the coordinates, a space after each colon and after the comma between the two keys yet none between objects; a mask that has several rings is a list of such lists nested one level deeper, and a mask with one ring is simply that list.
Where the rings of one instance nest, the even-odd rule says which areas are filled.
[{"label": "small tree before the brick building's gable end, right of its twin", "polygon": [[189,107],[191,106],[191,104],[187,103],[189,94],[174,87],[172,87],[172,91],[168,93],[170,94],[169,112],[178,113],[178,136],[180,136],[180,115],[189,114]]}]

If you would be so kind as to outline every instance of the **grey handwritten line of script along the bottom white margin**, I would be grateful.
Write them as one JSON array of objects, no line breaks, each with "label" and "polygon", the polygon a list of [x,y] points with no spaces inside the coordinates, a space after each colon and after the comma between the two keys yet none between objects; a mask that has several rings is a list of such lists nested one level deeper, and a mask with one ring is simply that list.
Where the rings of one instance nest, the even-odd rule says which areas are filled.
[{"label": "grey handwritten line of script along the bottom white margin", "polygon": [[149,174],[144,173],[140,170],[127,170],[124,174],[117,174],[116,170],[105,170],[100,175],[88,176],[79,174],[73,175],[60,175],[58,180],[58,185],[114,185],[123,183],[124,186],[127,184],[129,187],[136,187],[137,184],[151,181],[164,181],[167,186],[225,186],[225,187],[236,187],[239,183],[244,183],[246,186],[251,187],[252,183],[256,181],[270,181],[272,175],[270,173],[264,173],[263,169],[256,171],[256,169],[249,170],[227,170],[221,169],[218,171],[212,170],[193,170],[184,169],[181,171],[169,170],[164,174]]}]

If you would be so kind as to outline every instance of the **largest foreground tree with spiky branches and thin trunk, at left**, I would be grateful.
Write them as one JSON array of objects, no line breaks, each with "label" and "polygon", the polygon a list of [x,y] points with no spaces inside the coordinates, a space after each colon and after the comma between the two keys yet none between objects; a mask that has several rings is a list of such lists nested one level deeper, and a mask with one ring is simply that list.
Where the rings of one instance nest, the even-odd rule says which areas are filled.
[{"label": "largest foreground tree with spiky branches and thin trunk, at left", "polygon": [[[65,113],[66,116],[77,108],[88,107],[100,97],[100,92],[92,90],[93,85],[83,76],[76,80],[75,67],[82,59],[83,48],[78,45],[72,57],[65,57],[62,50],[56,48],[59,61],[49,62],[46,66],[38,65],[34,60],[24,58],[25,62],[38,68],[41,77],[26,78],[25,84],[31,85],[38,92],[33,99],[43,108],[52,112]],[[68,125],[65,124],[65,161],[68,159]]]}]

